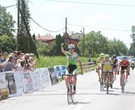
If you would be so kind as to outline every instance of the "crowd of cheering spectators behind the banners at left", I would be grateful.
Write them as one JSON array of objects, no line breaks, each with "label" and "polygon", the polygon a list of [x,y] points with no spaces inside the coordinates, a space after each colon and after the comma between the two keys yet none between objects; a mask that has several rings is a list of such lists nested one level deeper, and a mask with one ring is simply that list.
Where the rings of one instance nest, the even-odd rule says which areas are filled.
[{"label": "crowd of cheering spectators behind the banners at left", "polygon": [[37,59],[33,59],[33,53],[14,51],[8,54],[0,51],[0,72],[12,70],[34,70]]}]

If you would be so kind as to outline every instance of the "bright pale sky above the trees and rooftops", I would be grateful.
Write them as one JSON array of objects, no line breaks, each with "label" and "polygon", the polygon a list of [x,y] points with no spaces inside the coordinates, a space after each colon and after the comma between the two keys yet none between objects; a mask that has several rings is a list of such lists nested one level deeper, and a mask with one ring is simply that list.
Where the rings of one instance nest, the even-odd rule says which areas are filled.
[{"label": "bright pale sky above the trees and rooftops", "polygon": [[[0,0],[0,5],[10,6],[17,0]],[[46,31],[31,21],[31,34],[63,34],[65,18],[68,33],[101,31],[108,39],[119,39],[128,48],[132,43],[131,27],[135,25],[135,0],[28,0],[31,17]],[[16,6],[7,8],[17,21]],[[15,25],[16,27],[16,25]],[[55,31],[55,32],[52,32]],[[56,32],[57,31],[57,32]]]}]

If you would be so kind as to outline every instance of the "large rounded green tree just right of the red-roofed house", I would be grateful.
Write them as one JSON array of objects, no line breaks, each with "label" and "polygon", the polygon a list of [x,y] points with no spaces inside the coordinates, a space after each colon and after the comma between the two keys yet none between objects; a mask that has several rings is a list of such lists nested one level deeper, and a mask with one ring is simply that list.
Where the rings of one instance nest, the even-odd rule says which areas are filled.
[{"label": "large rounded green tree just right of the red-roofed house", "polygon": [[[92,56],[94,57],[101,52],[110,53],[108,44],[108,39],[105,38],[100,31],[91,31],[85,35],[84,54],[85,56],[89,56],[89,52],[92,51]],[[83,38],[81,38],[78,47],[80,51],[83,52]]]}]

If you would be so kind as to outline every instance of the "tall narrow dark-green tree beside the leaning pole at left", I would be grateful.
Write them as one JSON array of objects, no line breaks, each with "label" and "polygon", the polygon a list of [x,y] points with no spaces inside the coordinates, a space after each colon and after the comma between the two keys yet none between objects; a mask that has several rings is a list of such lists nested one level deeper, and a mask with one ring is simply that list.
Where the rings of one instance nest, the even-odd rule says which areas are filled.
[{"label": "tall narrow dark-green tree beside the leaning pole at left", "polygon": [[[19,11],[20,12],[20,19],[19,19],[19,35],[18,35],[18,50],[24,51],[24,52],[30,52],[30,39],[27,34],[26,27],[28,28],[28,31],[30,31],[30,14],[28,10],[27,3],[25,0],[20,0],[20,5],[19,5]],[[24,20],[27,24],[25,26]]]}]

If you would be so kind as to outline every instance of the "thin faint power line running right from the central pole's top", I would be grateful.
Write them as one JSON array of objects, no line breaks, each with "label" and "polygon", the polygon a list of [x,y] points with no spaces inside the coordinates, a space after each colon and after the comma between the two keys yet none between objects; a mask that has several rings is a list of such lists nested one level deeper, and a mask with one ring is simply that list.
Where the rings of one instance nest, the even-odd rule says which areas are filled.
[{"label": "thin faint power line running right from the central pole's top", "polygon": [[87,27],[87,28],[96,28],[96,29],[101,29],[101,30],[131,32],[131,31],[129,31],[129,30],[112,29],[112,28],[100,28],[100,27],[91,27],[91,26],[84,26],[84,25],[72,24],[72,23],[68,23],[68,25],[73,25],[73,26],[78,26],[78,27]]}]

